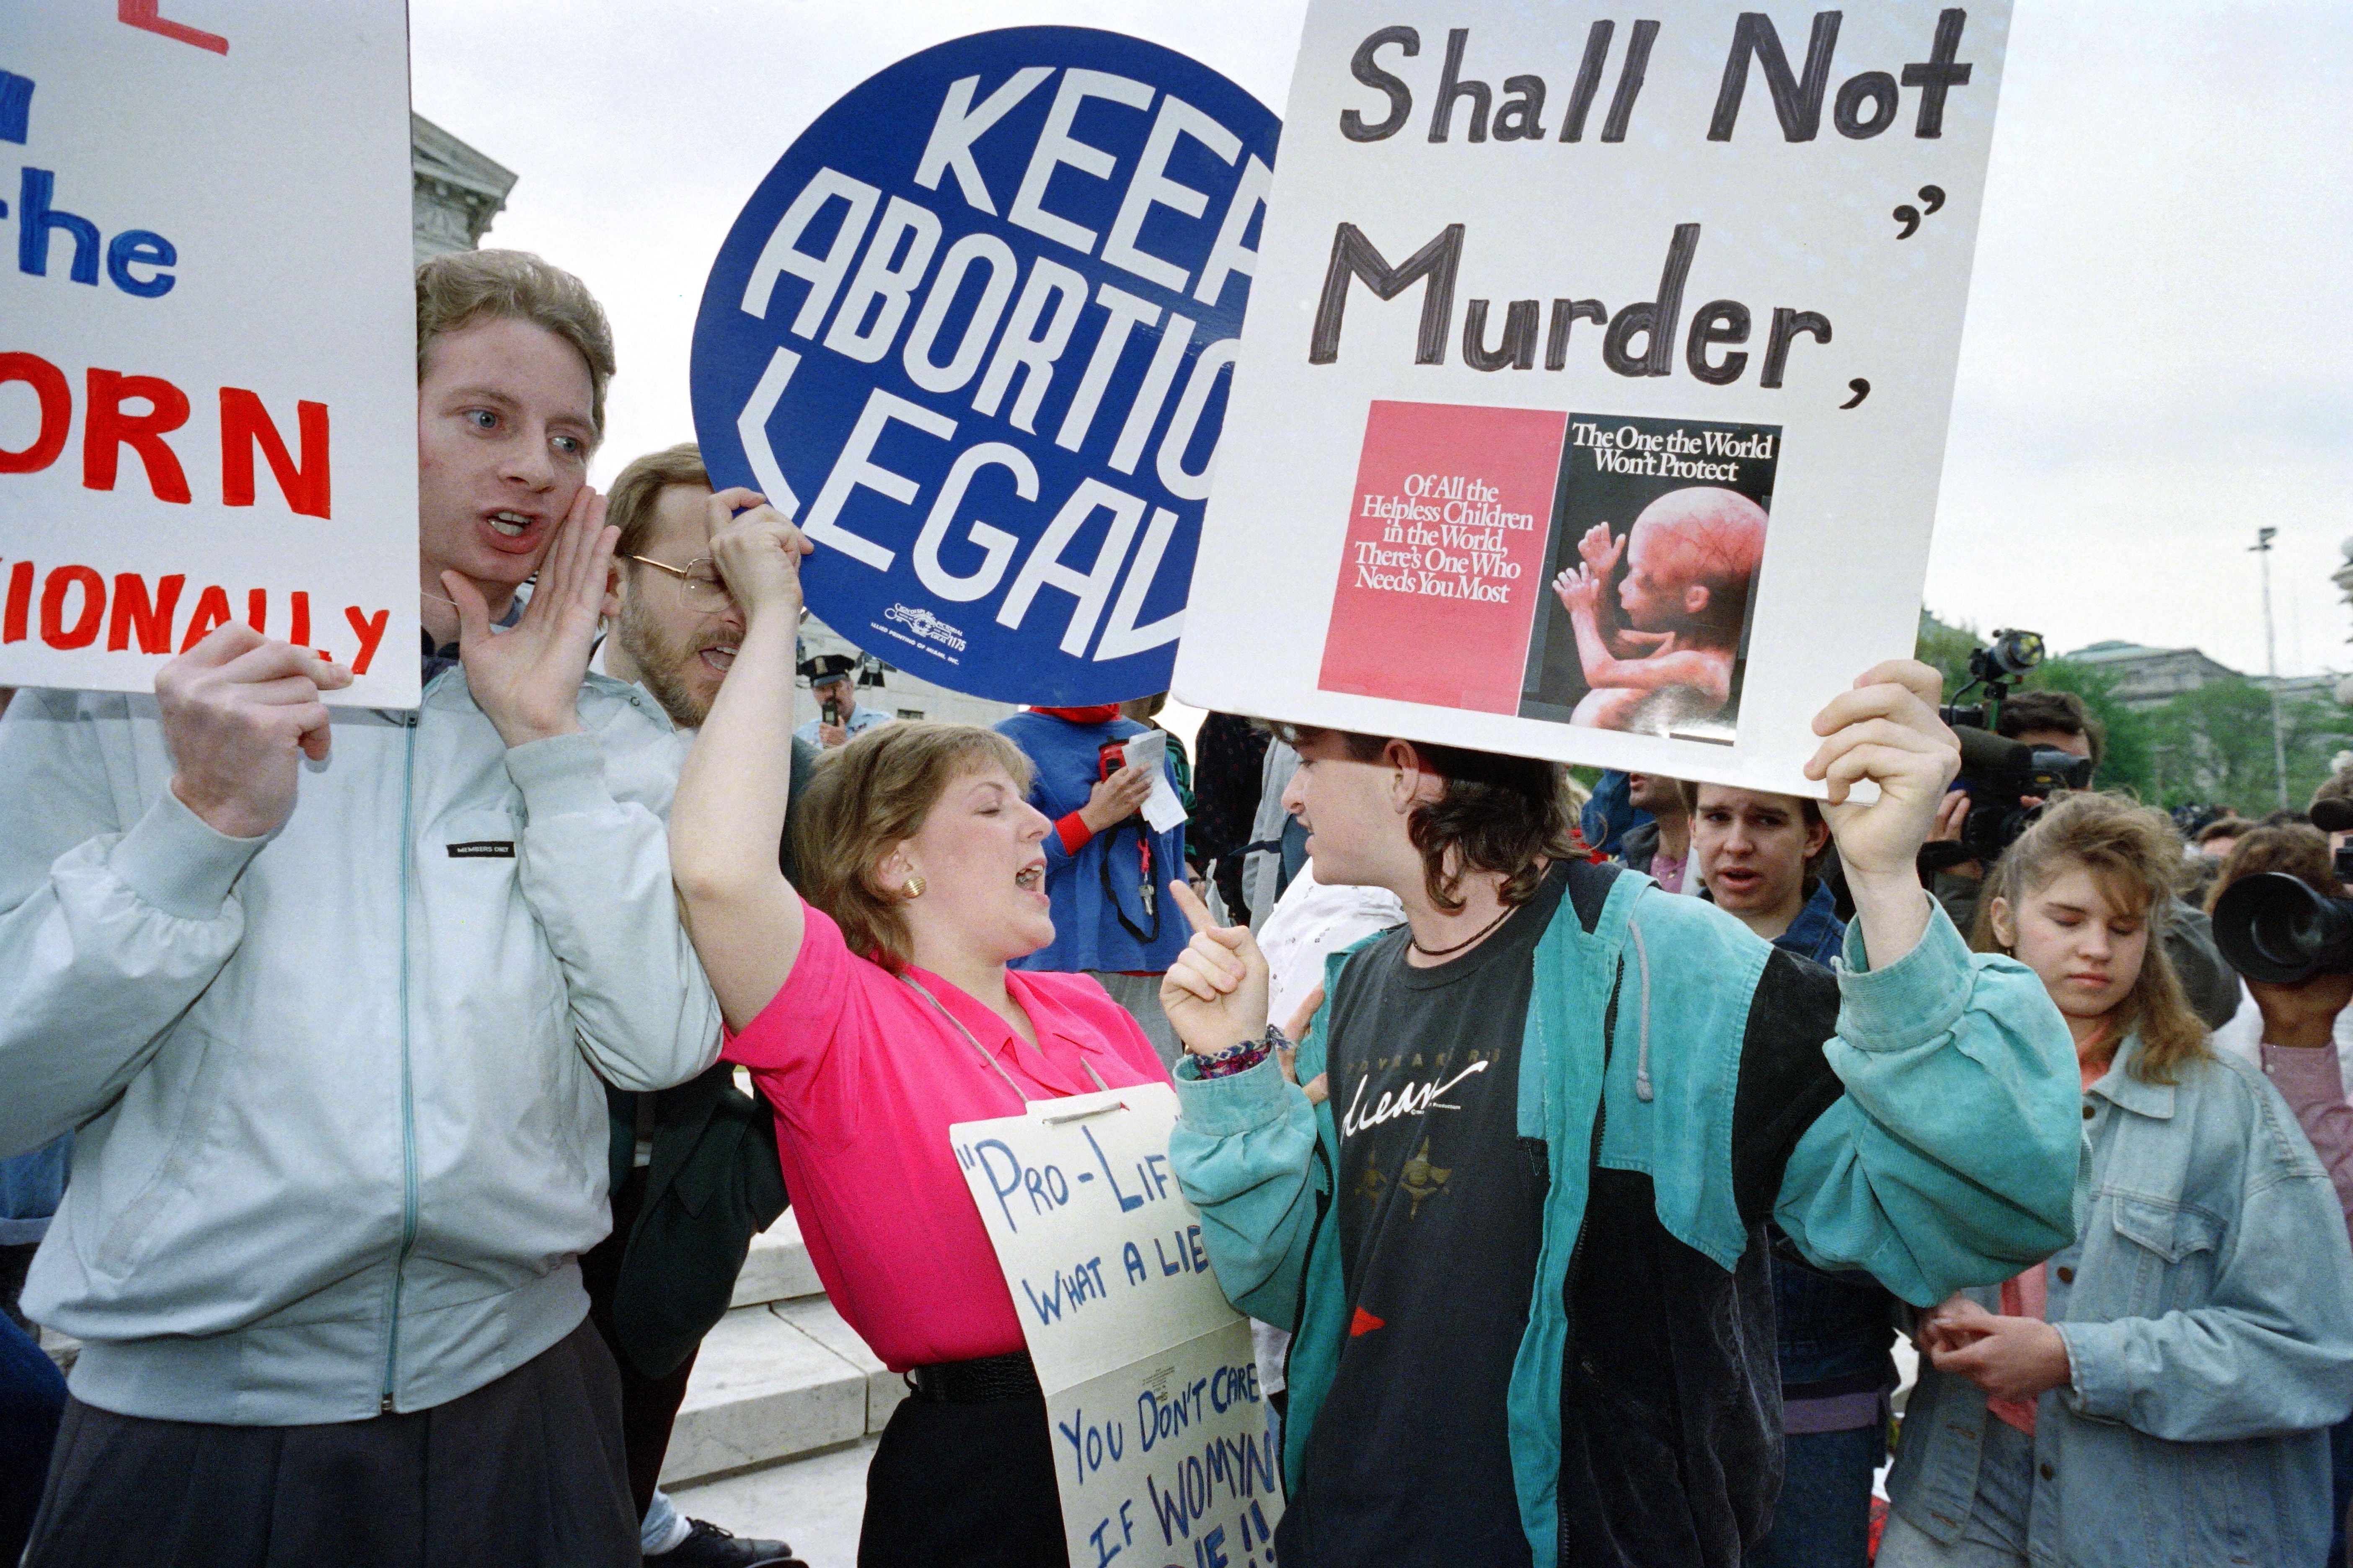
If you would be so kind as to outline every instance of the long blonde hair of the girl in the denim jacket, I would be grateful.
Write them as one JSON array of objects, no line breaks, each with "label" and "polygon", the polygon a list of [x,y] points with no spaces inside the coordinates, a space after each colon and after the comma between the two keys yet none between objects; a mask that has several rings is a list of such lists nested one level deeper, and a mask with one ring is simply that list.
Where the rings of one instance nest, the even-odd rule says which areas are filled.
[{"label": "long blonde hair of the girl in the denim jacket", "polygon": [[2125,795],[2059,795],[2042,816],[1993,863],[1984,896],[1977,900],[1977,924],[1969,945],[1979,952],[2007,952],[1993,931],[1993,900],[2017,919],[2031,893],[2049,886],[2071,867],[2092,872],[2111,903],[2141,910],[2148,917],[2148,954],[2141,976],[2115,1004],[2108,1020],[2115,1039],[2141,1037],[2132,1077],[2146,1084],[2172,1084],[2184,1063],[2212,1056],[2207,1027],[2181,994],[2181,978],[2165,952],[2174,879],[2181,867],[2181,835],[2162,811],[2141,806]]}]

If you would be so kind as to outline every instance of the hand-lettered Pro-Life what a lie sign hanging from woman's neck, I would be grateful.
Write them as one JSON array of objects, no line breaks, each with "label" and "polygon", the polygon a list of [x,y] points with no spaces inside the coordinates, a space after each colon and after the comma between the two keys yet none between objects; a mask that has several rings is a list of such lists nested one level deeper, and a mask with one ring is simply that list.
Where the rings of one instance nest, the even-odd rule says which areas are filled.
[{"label": "hand-lettered Pro-Life what a lie sign hanging from woman's neck", "polygon": [[1282,1465],[1174,1126],[1176,1091],[1139,1084],[948,1138],[1045,1385],[1071,1563],[1273,1568]]}]

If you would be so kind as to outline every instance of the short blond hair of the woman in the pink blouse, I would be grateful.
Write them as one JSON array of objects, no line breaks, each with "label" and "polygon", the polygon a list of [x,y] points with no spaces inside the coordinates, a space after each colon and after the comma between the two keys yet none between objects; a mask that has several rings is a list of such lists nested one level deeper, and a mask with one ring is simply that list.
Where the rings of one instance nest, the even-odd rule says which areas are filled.
[{"label": "short blond hair of the woman in the pink blouse", "polygon": [[816,764],[793,823],[793,863],[802,898],[840,924],[849,952],[892,973],[913,961],[906,900],[878,886],[875,870],[922,830],[948,785],[993,766],[1028,790],[1031,762],[1019,745],[979,724],[925,719],[878,724]]}]

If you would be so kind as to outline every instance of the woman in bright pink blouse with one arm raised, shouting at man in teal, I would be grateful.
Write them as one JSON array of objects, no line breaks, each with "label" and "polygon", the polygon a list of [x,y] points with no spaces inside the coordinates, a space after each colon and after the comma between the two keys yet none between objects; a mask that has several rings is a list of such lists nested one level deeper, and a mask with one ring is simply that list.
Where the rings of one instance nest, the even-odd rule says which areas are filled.
[{"label": "woman in bright pink blouse with one arm raised, shouting at man in teal", "polygon": [[671,870],[826,1293],[915,1389],[868,1472],[861,1568],[1059,1568],[1045,1396],[948,1126],[1167,1074],[1094,980],[1005,969],[1054,922],[1049,823],[1002,736],[856,736],[798,811],[807,903],[776,870],[807,550],[774,515],[711,541],[744,644],[678,780]]}]

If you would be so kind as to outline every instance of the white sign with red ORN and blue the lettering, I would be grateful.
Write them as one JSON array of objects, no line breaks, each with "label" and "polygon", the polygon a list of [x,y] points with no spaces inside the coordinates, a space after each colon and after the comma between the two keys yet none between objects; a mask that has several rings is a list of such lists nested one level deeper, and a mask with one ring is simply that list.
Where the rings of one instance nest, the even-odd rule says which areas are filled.
[{"label": "white sign with red ORN and blue the lettering", "polygon": [[407,71],[400,0],[0,12],[0,684],[242,621],[416,703]]}]

